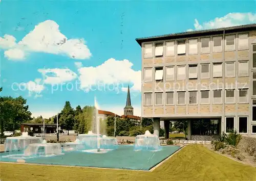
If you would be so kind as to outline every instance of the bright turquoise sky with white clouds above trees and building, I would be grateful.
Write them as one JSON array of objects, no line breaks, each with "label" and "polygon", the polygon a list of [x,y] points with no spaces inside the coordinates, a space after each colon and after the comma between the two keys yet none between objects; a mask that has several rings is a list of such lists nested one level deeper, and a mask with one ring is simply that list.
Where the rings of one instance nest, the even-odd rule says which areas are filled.
[{"label": "bright turquoise sky with white clouds above trees and building", "polygon": [[0,0],[1,96],[49,118],[70,101],[123,114],[127,86],[141,115],[136,38],[256,23],[256,1]]}]

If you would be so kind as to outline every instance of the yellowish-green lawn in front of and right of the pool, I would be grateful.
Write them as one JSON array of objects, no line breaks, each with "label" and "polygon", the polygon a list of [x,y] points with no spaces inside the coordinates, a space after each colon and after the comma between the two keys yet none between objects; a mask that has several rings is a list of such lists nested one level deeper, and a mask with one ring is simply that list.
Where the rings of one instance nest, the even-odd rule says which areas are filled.
[{"label": "yellowish-green lawn in front of and right of the pool", "polygon": [[[127,158],[129,159],[129,158]],[[153,172],[0,163],[1,180],[256,180],[256,168],[189,145]]]}]

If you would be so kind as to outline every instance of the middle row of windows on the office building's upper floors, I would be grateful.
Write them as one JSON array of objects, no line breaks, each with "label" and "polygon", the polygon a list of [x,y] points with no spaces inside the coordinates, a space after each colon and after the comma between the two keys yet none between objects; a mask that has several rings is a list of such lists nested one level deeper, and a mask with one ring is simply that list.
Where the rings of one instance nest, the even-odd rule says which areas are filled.
[{"label": "middle row of windows on the office building's upper floors", "polygon": [[[174,81],[175,75],[177,74],[176,80],[186,80],[186,65],[166,66],[165,67],[165,80]],[[188,65],[188,79],[198,79],[198,64]],[[175,73],[176,72],[176,73]],[[223,65],[222,63],[212,63],[212,77],[222,77]],[[163,80],[163,67],[155,68],[155,81]],[[236,62],[225,63],[225,77],[236,76]],[[238,62],[238,76],[249,76],[249,61]],[[210,78],[210,63],[200,64],[200,77],[201,79]],[[152,82],[153,69],[144,68],[144,82]]]}]

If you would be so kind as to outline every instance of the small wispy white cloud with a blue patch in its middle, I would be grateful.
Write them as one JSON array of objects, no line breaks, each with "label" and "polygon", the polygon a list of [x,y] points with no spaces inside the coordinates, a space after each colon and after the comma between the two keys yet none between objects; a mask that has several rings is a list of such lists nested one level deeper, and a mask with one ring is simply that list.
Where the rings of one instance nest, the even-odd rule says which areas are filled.
[{"label": "small wispy white cloud with a blue patch in its middle", "polygon": [[[38,69],[45,84],[61,84],[76,79],[77,74],[68,68]],[[50,75],[49,75],[50,74]]]}]

